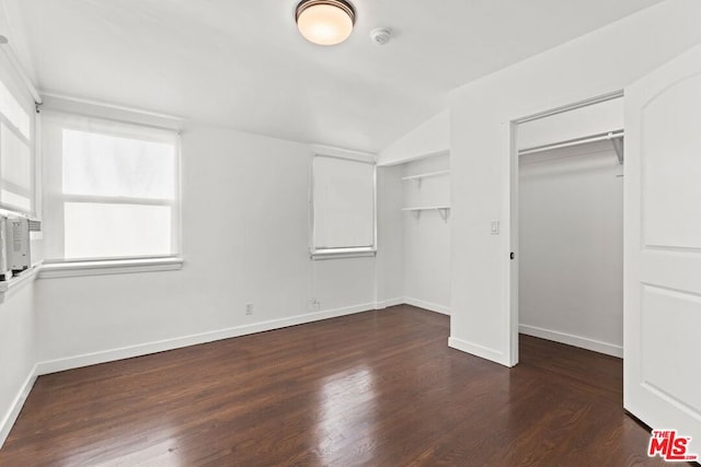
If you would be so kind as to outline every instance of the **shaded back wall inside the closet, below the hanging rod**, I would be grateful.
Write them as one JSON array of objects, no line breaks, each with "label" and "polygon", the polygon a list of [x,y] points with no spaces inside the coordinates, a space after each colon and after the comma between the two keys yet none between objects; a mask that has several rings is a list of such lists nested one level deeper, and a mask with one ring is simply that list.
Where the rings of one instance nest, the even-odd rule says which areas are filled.
[{"label": "shaded back wall inside the closet, below the hanging rod", "polygon": [[609,141],[520,157],[521,332],[623,355],[622,174]]}]

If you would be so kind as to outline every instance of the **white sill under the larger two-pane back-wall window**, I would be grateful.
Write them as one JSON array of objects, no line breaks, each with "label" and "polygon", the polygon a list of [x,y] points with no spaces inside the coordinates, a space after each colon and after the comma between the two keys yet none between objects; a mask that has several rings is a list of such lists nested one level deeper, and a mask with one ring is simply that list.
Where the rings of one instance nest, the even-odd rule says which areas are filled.
[{"label": "white sill under the larger two-pane back-wall window", "polygon": [[173,271],[182,268],[183,258],[180,257],[51,262],[42,266],[38,278],[56,279],[80,276],[126,275],[133,272]]}]

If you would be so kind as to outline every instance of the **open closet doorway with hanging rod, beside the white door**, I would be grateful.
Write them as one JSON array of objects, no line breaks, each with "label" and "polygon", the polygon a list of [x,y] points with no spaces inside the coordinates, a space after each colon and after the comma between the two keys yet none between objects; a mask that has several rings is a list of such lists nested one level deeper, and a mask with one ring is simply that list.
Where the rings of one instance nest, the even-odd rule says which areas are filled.
[{"label": "open closet doorway with hanging rod, beside the white door", "polygon": [[528,335],[622,358],[623,97],[514,130],[513,349]]}]

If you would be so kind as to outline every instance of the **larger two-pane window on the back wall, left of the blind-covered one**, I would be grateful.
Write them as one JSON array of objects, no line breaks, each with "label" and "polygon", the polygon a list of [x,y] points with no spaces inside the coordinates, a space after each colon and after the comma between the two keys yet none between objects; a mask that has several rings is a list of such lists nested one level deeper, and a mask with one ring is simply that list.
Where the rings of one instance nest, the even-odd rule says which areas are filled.
[{"label": "larger two-pane window on the back wall, left of the blind-covered one", "polygon": [[179,253],[179,136],[42,112],[48,261]]}]

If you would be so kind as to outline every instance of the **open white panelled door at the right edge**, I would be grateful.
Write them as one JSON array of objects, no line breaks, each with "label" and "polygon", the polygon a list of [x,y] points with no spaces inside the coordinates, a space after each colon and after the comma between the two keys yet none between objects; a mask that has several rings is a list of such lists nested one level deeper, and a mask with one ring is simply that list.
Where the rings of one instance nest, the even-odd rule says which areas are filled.
[{"label": "open white panelled door at the right edge", "polygon": [[701,47],[625,90],[624,406],[701,455]]}]

